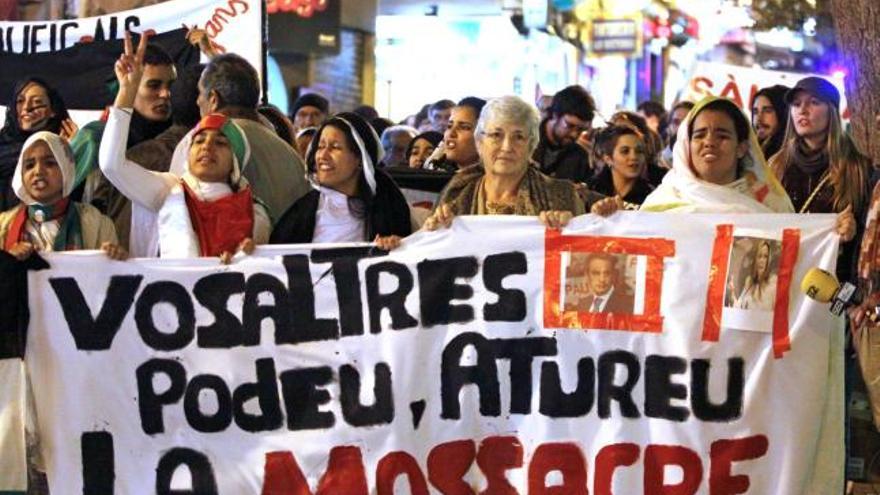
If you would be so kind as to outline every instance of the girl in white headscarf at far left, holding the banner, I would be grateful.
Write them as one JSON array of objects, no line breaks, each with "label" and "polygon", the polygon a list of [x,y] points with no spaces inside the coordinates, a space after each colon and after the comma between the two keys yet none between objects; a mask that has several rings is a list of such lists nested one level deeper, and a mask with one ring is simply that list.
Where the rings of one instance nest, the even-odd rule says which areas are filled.
[{"label": "girl in white headscarf at far left, holding the banner", "polygon": [[0,213],[3,250],[18,259],[34,251],[78,249],[103,249],[114,259],[126,257],[117,246],[113,222],[91,205],[68,197],[74,175],[73,152],[64,138],[41,131],[25,141],[12,177],[21,204]]}]

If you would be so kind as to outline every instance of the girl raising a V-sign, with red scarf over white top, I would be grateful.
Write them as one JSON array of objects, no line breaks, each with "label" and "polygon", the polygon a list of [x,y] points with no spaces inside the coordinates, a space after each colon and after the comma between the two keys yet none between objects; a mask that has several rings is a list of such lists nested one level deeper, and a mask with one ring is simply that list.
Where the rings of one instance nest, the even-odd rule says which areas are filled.
[{"label": "girl raising a V-sign, with red scarf over white top", "polygon": [[[132,229],[158,225],[163,258],[220,257],[229,263],[237,252],[249,254],[269,239],[270,221],[241,176],[250,146],[241,129],[221,114],[210,114],[183,139],[189,150],[175,156],[170,172],[146,170],[125,158],[132,104],[144,72],[148,36],[137,51],[126,33],[125,52],[114,67],[119,92],[101,140],[99,164],[105,177],[126,197],[156,215],[132,219]],[[142,221],[142,225],[138,222]]]}]

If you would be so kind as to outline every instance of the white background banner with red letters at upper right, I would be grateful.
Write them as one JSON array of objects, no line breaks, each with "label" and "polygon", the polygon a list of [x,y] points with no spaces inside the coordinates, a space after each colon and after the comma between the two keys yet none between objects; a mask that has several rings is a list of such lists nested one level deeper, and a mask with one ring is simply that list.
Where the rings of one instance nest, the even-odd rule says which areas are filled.
[{"label": "white background banner with red letters at upper right", "polygon": [[742,67],[718,62],[697,62],[691,73],[691,80],[687,88],[679,96],[679,99],[700,101],[708,95],[729,98],[746,115],[750,115],[752,112],[750,106],[752,98],[759,89],[773,86],[774,84],[793,87],[798,81],[808,76],[823,77],[837,88],[840,92],[841,115],[848,119],[849,106],[846,103],[843,79],[822,74],[766,70],[760,67]]}]

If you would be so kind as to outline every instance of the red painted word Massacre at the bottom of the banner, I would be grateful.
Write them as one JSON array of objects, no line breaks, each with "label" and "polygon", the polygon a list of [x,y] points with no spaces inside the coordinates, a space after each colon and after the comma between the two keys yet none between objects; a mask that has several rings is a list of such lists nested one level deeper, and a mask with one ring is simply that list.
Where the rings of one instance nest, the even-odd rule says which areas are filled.
[{"label": "red painted word Massacre at the bottom of the banner", "polygon": [[[766,455],[769,440],[764,435],[738,439],[722,439],[712,443],[708,459],[709,495],[738,495],[747,493],[751,485],[742,466],[734,475],[734,463],[759,459]],[[644,456],[642,453],[644,452]],[[595,458],[594,495],[618,493],[620,486],[631,486],[633,474],[618,479],[614,492],[615,471],[635,465],[642,458],[642,493],[652,495],[693,495],[705,490],[704,460],[683,445],[617,443],[601,448]],[[266,454],[262,495],[329,495],[345,493],[366,495],[370,490],[378,495],[395,493],[395,483],[405,476],[407,493],[427,495],[428,482],[444,495],[475,495],[476,486],[484,486],[483,494],[516,494],[526,487],[515,487],[508,481],[508,471],[525,469],[528,473],[527,491],[530,495],[588,495],[588,462],[580,445],[572,442],[538,445],[528,465],[525,449],[515,436],[485,438],[477,448],[474,440],[456,440],[431,449],[427,459],[427,477],[419,461],[411,454],[394,451],[382,457],[376,465],[375,488],[367,485],[366,468],[359,447],[333,447],[327,468],[312,491],[309,480],[291,452]],[[483,480],[470,479],[475,472],[474,462],[483,474]],[[673,468],[673,469],[668,469]],[[676,473],[679,471],[679,473]],[[550,481],[549,475],[556,475]],[[667,476],[667,473],[672,473]],[[618,473],[620,474],[620,473]],[[465,476],[469,479],[466,481]],[[426,481],[427,479],[427,481]],[[511,479],[517,479],[515,475]],[[672,481],[675,479],[676,481]],[[623,484],[620,482],[624,481]],[[548,483],[549,486],[548,486]],[[401,488],[400,486],[397,487]]]}]

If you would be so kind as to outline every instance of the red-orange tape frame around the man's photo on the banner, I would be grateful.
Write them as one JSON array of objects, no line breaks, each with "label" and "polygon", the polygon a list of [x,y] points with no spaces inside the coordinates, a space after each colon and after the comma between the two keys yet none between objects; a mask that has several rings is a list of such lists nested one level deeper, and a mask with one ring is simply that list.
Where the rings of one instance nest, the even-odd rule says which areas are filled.
[{"label": "red-orange tape frame around the man's photo on the banner", "polygon": [[[565,311],[560,307],[562,253],[606,253],[647,256],[645,304],[641,315]],[[675,255],[675,242],[660,238],[610,236],[564,236],[558,230],[544,234],[544,326],[626,330],[660,333],[663,317],[660,299],[663,289],[663,258]]]}]

